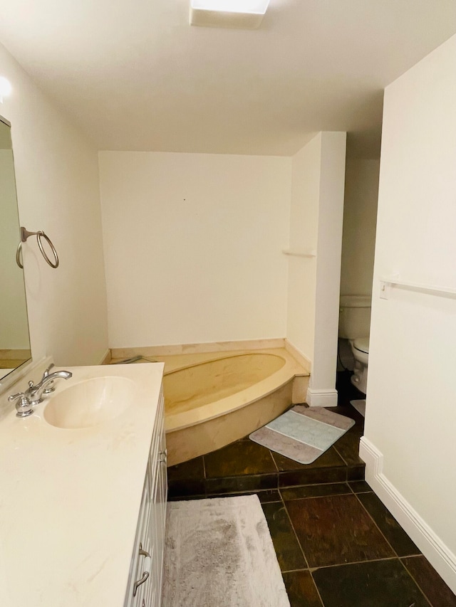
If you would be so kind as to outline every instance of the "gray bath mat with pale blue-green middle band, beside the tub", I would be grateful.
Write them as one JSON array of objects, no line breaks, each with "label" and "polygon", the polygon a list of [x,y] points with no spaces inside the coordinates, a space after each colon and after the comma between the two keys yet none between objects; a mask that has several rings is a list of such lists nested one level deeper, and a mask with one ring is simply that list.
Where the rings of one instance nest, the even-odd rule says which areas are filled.
[{"label": "gray bath mat with pale blue-green middle band, beside the tub", "polygon": [[301,464],[310,464],[355,422],[323,407],[296,405],[252,432],[255,443]]}]

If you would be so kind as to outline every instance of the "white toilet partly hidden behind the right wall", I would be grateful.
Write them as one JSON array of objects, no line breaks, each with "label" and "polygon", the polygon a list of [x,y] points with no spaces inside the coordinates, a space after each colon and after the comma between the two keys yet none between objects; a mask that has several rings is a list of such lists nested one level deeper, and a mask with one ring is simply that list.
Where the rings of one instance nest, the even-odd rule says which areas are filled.
[{"label": "white toilet partly hidden behind the right wall", "polygon": [[355,359],[351,383],[366,394],[368,381],[369,330],[371,328],[371,297],[341,295],[339,337],[348,339]]}]

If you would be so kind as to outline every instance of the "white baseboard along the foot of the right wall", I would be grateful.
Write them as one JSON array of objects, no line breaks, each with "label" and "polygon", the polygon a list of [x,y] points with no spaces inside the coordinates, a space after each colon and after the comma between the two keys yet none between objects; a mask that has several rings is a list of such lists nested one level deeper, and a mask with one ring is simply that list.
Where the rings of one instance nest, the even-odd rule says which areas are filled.
[{"label": "white baseboard along the foot of the right wall", "polygon": [[366,462],[366,481],[395,519],[413,539],[445,582],[456,593],[456,555],[432,531],[418,512],[383,474],[383,453],[366,437],[361,438],[360,458]]}]

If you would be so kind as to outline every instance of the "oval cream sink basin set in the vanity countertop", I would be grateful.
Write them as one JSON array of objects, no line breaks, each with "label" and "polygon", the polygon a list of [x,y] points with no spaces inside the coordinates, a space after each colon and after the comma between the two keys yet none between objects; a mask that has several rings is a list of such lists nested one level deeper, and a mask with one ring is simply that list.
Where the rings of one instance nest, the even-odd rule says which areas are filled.
[{"label": "oval cream sink basin set in the vanity countertop", "polygon": [[44,408],[44,419],[57,428],[98,426],[130,407],[136,387],[131,379],[118,376],[80,381],[51,396]]}]

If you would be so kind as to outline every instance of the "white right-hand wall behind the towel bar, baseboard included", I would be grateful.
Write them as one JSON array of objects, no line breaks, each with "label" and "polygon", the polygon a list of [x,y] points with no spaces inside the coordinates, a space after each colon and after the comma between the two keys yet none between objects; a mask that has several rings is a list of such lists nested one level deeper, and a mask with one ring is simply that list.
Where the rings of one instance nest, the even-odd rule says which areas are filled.
[{"label": "white right-hand wall behind the towel bar, baseboard included", "polygon": [[456,36],[385,91],[366,430],[367,477],[456,591]]}]

